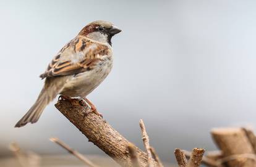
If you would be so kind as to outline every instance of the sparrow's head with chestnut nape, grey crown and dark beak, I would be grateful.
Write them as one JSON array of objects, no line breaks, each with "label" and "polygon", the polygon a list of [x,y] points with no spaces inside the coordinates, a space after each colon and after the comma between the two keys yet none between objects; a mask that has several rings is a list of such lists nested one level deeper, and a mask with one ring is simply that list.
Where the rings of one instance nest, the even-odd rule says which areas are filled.
[{"label": "sparrow's head with chestnut nape, grey crown and dark beak", "polygon": [[98,20],[85,26],[79,35],[111,45],[111,38],[120,32],[121,30],[117,26],[114,26],[113,23]]}]

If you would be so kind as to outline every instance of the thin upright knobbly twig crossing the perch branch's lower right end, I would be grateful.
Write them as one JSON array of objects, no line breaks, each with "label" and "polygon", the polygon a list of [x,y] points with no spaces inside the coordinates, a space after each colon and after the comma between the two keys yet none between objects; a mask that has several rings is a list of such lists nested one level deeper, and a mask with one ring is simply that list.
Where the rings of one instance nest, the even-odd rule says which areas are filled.
[{"label": "thin upright knobbly twig crossing the perch branch's lower right end", "polygon": [[143,123],[143,120],[140,119],[140,129],[142,131],[142,140],[148,155],[148,166],[151,167],[153,166],[153,161],[152,161],[152,155],[150,152],[150,144],[149,144],[149,137],[145,128],[145,124]]}]

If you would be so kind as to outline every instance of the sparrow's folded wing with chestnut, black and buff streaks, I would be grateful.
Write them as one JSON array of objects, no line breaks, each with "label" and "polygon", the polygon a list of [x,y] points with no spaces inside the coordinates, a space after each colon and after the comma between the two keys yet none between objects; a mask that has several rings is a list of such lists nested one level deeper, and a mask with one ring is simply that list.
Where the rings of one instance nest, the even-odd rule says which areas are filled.
[{"label": "sparrow's folded wing with chestnut, black and buff streaks", "polygon": [[109,52],[108,46],[78,36],[59,51],[40,77],[43,79],[92,70]]}]

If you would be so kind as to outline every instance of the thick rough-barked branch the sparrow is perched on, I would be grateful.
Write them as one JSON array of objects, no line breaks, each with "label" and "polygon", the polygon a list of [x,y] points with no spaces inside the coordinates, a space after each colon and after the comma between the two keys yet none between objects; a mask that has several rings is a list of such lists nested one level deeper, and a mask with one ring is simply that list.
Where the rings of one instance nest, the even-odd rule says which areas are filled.
[{"label": "thick rough-barked branch the sparrow is perched on", "polygon": [[[77,99],[60,99],[55,106],[90,142],[93,142],[109,157],[121,166],[132,166],[127,151],[129,141],[113,129],[101,116],[93,112],[85,116],[84,113],[87,112],[88,107],[81,106]],[[135,150],[137,150],[140,166],[147,166],[147,153],[137,147]],[[153,160],[153,166],[158,166],[155,160]]]}]

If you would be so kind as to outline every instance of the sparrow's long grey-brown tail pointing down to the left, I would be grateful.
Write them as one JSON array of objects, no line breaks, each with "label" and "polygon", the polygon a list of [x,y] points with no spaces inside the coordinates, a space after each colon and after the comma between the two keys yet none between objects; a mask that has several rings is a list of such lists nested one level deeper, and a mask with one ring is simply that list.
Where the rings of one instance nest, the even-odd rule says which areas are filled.
[{"label": "sparrow's long grey-brown tail pointing down to the left", "polygon": [[65,79],[65,77],[58,79],[46,78],[45,86],[41,90],[35,104],[33,104],[28,112],[15,124],[15,128],[38,121],[46,105],[48,105],[63,88],[65,81],[62,82],[60,79]]}]

